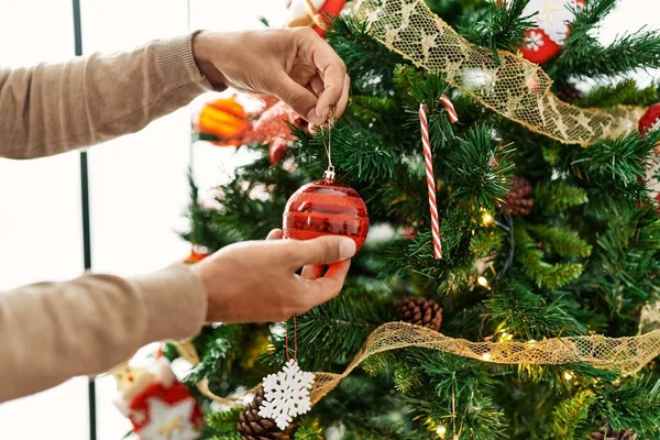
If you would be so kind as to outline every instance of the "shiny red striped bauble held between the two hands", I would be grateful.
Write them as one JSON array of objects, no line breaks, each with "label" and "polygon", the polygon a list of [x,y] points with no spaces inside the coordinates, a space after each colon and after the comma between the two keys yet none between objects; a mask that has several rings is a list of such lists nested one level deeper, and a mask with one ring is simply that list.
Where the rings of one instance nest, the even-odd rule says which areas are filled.
[{"label": "shiny red striped bauble held between the two hands", "polygon": [[294,193],[283,217],[285,239],[345,235],[360,250],[369,232],[364,200],[354,189],[331,179],[315,180]]}]

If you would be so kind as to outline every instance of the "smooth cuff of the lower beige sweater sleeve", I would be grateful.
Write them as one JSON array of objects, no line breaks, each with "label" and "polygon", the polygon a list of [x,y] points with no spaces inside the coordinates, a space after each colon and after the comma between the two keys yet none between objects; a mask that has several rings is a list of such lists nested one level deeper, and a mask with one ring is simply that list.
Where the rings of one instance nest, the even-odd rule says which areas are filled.
[{"label": "smooth cuff of the lower beige sweater sleeve", "polygon": [[204,283],[184,264],[132,278],[147,307],[145,340],[180,340],[195,336],[207,315]]}]

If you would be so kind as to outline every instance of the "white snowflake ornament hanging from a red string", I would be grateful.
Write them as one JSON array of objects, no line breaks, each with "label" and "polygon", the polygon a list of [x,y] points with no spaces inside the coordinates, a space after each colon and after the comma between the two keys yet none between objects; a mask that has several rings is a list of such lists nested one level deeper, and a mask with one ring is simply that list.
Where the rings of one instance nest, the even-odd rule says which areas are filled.
[{"label": "white snowflake ornament hanging from a red string", "polygon": [[258,415],[275,420],[285,430],[294,417],[311,409],[309,392],[314,374],[304,372],[298,362],[290,360],[277,374],[268,374],[263,381],[264,402]]}]

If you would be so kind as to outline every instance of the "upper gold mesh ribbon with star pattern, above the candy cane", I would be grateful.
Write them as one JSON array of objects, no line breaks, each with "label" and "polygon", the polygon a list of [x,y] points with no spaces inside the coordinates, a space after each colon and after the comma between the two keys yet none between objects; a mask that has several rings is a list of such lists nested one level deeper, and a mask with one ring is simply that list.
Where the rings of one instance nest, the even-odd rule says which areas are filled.
[{"label": "upper gold mesh ribbon with star pattern, above the candy cane", "polygon": [[550,91],[552,79],[510,52],[494,54],[461,37],[424,0],[355,0],[346,12],[370,23],[369,33],[418,67],[442,73],[453,87],[529,130],[586,146],[634,131],[644,108],[581,109]]}]

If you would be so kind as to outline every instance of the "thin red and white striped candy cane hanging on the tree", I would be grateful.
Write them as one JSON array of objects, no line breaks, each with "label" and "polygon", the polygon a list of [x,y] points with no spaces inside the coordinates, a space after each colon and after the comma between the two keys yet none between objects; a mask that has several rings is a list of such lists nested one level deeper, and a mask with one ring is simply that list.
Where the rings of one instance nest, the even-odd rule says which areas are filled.
[{"label": "thin red and white striped candy cane hanging on the tree", "polygon": [[[457,111],[449,98],[440,97],[440,102],[447,109],[449,120],[454,123],[459,120]],[[429,191],[429,209],[431,212],[431,234],[433,235],[433,256],[442,258],[442,242],[440,241],[440,221],[438,220],[438,204],[436,202],[436,178],[433,176],[433,156],[431,154],[431,142],[429,140],[429,122],[426,106],[419,105],[419,122],[421,125],[421,145],[424,147],[424,162],[427,172],[427,186]]]}]

